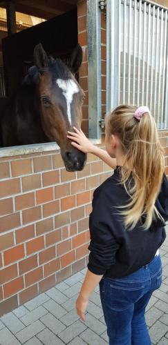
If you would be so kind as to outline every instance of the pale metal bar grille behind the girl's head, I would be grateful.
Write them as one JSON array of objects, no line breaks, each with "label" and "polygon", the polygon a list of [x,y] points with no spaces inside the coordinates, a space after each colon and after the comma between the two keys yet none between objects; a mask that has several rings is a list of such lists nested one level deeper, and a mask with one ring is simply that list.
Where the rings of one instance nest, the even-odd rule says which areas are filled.
[{"label": "pale metal bar grille behind the girl's head", "polygon": [[149,106],[158,129],[167,128],[167,9],[106,0],[106,17],[107,71],[113,70],[110,77],[107,72],[106,111],[122,103]]}]

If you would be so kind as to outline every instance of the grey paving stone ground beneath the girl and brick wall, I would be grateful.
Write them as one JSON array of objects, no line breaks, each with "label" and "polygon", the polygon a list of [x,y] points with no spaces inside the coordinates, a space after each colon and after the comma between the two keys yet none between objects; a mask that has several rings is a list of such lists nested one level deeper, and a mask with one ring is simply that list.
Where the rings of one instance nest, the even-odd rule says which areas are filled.
[{"label": "grey paving stone ground beneath the girl and brick wall", "polygon": [[[160,249],[162,286],[147,306],[147,325],[153,345],[168,345],[168,226]],[[86,322],[75,312],[75,300],[86,268],[54,288],[0,318],[0,345],[107,345],[99,286],[91,295]],[[143,345],[143,343],[142,343]]]}]

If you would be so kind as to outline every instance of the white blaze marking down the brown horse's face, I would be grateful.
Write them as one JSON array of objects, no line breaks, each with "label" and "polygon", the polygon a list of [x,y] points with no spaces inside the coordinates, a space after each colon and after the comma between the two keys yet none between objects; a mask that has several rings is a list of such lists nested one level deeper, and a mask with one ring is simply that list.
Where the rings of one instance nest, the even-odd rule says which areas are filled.
[{"label": "white blaze marking down the brown horse's face", "polygon": [[59,88],[62,89],[63,95],[66,98],[68,120],[71,124],[71,103],[73,101],[73,95],[80,90],[73,79],[57,79],[56,83],[58,84]]}]

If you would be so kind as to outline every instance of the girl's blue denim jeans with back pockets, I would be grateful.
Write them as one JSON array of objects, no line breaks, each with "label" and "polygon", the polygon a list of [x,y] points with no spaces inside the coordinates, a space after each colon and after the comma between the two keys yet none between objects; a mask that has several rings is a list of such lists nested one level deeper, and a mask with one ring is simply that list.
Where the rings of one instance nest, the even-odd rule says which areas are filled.
[{"label": "girl's blue denim jeans with back pockets", "polygon": [[160,255],[127,277],[102,277],[100,299],[109,345],[151,345],[144,313],[161,282]]}]

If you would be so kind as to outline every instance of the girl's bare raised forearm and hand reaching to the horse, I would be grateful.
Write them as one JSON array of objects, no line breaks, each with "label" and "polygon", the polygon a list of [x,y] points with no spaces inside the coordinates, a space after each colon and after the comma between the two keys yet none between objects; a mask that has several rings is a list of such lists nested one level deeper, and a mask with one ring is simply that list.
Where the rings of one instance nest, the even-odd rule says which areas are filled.
[{"label": "girl's bare raised forearm and hand reaching to the horse", "polygon": [[77,128],[73,127],[75,132],[69,132],[68,131],[68,139],[73,140],[72,145],[75,148],[78,148],[78,150],[85,152],[85,153],[93,153],[93,155],[99,157],[104,161],[108,166],[115,169],[116,168],[116,159],[111,158],[109,156],[109,153],[107,153],[105,150],[102,150],[102,148],[99,148],[98,146],[95,146],[89,141],[86,136],[84,135],[84,132],[82,130],[78,130]]}]

